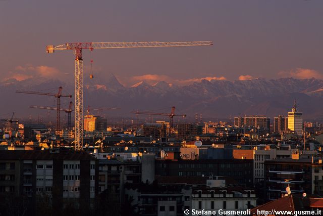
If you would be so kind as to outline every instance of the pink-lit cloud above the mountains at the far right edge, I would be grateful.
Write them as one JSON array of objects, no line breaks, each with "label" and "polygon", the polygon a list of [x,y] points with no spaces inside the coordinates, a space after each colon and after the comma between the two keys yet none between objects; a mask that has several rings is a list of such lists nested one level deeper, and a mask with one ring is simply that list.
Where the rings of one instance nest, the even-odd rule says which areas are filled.
[{"label": "pink-lit cloud above the mountains at the far right edge", "polygon": [[323,74],[319,73],[316,70],[306,68],[296,68],[290,71],[280,71],[278,75],[280,77],[294,77],[297,79],[309,79],[312,77],[317,79],[323,79]]}]

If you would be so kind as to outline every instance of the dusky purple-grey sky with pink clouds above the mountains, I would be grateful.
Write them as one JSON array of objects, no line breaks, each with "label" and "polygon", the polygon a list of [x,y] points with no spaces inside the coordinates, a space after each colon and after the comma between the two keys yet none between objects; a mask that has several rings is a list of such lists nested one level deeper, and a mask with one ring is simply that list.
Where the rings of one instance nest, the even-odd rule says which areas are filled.
[{"label": "dusky purple-grey sky with pink clouds above the mountains", "polygon": [[322,9],[321,0],[2,0],[0,80],[72,81],[73,53],[46,45],[194,40],[213,46],[84,51],[84,73],[125,85],[323,78]]}]

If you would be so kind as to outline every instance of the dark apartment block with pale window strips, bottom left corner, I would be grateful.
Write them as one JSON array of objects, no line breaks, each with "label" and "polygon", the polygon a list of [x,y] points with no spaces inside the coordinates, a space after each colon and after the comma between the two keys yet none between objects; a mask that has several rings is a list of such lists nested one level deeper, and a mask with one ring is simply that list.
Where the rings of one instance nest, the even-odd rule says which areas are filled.
[{"label": "dark apartment block with pale window strips, bottom left corner", "polygon": [[98,160],[84,151],[0,151],[0,215],[88,215]]}]

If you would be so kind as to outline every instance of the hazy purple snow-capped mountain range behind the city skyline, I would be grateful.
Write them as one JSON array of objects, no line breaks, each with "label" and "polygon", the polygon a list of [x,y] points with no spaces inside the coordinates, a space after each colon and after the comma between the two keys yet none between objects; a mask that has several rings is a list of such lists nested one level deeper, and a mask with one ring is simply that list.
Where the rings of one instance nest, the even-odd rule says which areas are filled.
[{"label": "hazy purple snow-capped mountain range behind the city skyline", "polygon": [[[30,105],[54,105],[55,98],[15,93],[16,90],[57,92],[63,87],[63,94],[74,92],[73,83],[59,80],[31,78],[23,81],[9,79],[0,82],[1,113],[15,111],[27,116],[39,110]],[[323,80],[320,79],[253,79],[253,80],[202,80],[179,86],[166,81],[152,85],[140,81],[131,87],[124,87],[114,75],[105,79],[84,80],[84,107],[119,107],[109,115],[133,116],[134,110],[157,110],[176,106],[177,114],[187,114],[194,118],[195,113],[203,117],[229,118],[229,115],[264,114],[270,117],[287,115],[293,101],[297,100],[298,110],[304,118],[323,118]],[[68,103],[71,99],[62,99]],[[74,99],[72,99],[73,101]],[[63,102],[62,102],[63,103]],[[44,111],[45,112],[45,111]],[[167,112],[167,111],[166,111]]]}]

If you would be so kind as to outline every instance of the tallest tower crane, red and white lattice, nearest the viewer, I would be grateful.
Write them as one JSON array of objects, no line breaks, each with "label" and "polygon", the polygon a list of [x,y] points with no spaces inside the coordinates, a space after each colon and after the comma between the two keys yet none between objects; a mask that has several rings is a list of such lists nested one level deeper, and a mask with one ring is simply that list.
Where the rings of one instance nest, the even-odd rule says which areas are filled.
[{"label": "tallest tower crane, red and white lattice, nearest the viewer", "polygon": [[87,49],[119,49],[119,48],[150,48],[150,47],[187,47],[208,46],[212,41],[186,41],[186,42],[71,42],[63,45],[46,47],[47,53],[56,50],[73,50],[75,55],[75,150],[83,149],[83,59],[82,50]]}]

